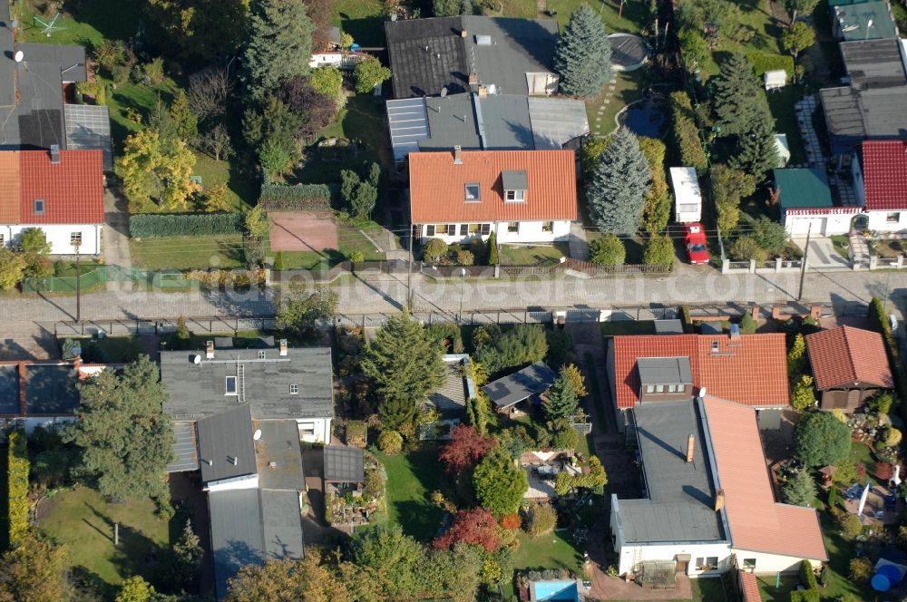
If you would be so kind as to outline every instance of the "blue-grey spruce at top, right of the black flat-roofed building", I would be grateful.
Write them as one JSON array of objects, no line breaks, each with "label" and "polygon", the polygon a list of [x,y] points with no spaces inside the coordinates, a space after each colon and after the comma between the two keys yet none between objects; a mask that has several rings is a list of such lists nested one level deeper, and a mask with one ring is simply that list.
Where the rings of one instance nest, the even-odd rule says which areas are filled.
[{"label": "blue-grey spruce at top, right of the black flat-roofed building", "polygon": [[580,5],[564,28],[554,53],[561,92],[595,96],[611,79],[611,43],[605,25],[589,5]]}]

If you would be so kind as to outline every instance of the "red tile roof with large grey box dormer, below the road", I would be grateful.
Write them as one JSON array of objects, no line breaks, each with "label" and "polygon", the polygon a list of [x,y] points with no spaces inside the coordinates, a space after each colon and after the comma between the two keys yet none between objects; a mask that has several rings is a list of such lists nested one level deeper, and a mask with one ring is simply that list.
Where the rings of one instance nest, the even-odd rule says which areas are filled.
[{"label": "red tile roof with large grey box dormer, below the road", "polygon": [[627,335],[608,341],[606,368],[623,431],[630,408],[708,394],[756,409],[790,405],[785,335]]}]

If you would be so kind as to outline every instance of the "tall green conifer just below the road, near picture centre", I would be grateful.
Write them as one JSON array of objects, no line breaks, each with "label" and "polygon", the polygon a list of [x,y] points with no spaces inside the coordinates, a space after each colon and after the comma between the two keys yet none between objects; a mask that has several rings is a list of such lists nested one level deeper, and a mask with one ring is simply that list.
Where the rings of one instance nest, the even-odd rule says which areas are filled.
[{"label": "tall green conifer just below the road, near picture centre", "polygon": [[369,342],[361,366],[375,380],[382,405],[387,404],[379,412],[385,421],[396,422],[392,428],[412,422],[416,405],[444,377],[441,345],[407,310],[381,326]]}]

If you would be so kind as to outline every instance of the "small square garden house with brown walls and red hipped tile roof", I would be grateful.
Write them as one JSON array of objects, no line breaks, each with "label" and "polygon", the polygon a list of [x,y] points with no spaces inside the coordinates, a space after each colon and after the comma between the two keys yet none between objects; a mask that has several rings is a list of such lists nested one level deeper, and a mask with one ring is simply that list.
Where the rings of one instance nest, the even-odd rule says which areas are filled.
[{"label": "small square garden house with brown walls and red hipped tile roof", "polygon": [[867,399],[894,388],[882,335],[841,326],[806,337],[819,407],[853,412]]}]

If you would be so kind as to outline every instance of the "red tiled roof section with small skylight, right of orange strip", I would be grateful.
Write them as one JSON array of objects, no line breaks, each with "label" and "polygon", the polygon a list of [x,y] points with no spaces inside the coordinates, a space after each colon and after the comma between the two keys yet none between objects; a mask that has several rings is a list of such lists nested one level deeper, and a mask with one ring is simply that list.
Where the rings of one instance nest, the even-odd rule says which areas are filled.
[{"label": "red tiled roof section with small skylight, right of orange strip", "polygon": [[[21,224],[102,224],[104,221],[101,150],[61,150],[51,163],[46,150],[19,150]],[[44,199],[44,213],[34,200]]]}]

